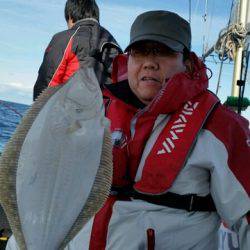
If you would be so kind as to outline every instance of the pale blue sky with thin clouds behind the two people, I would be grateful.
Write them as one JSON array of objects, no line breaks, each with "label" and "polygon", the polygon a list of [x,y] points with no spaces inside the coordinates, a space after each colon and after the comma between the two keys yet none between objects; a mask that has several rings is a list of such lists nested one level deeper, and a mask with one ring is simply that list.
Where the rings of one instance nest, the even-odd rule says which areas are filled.
[{"label": "pale blue sky with thin clouds behind the two people", "polygon": [[[100,23],[116,38],[122,48],[129,42],[129,30],[135,17],[147,10],[170,10],[189,20],[190,0],[97,0]],[[227,26],[231,0],[191,0],[192,50],[202,55],[210,48],[220,30]],[[31,104],[33,86],[52,36],[67,28],[65,0],[0,0],[0,99]],[[217,63],[216,63],[217,62]],[[207,66],[213,71],[210,90],[216,91],[220,63],[216,54]],[[224,102],[231,95],[233,64],[223,66],[218,96]],[[250,73],[249,73],[250,75]],[[248,77],[249,79],[250,77]],[[245,96],[250,97],[250,83]],[[250,108],[243,112],[250,119]]]}]

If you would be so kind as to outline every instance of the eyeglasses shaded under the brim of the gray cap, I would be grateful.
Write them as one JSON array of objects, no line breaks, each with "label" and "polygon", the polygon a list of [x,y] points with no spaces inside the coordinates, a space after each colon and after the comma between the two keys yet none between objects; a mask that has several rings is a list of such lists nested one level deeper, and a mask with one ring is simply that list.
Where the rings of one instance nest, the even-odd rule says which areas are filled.
[{"label": "eyeglasses shaded under the brim of the gray cap", "polygon": [[135,58],[148,56],[149,54],[158,57],[176,57],[179,53],[181,52],[173,51],[170,48],[158,43],[153,43],[150,45],[134,45],[128,51],[128,54]]}]

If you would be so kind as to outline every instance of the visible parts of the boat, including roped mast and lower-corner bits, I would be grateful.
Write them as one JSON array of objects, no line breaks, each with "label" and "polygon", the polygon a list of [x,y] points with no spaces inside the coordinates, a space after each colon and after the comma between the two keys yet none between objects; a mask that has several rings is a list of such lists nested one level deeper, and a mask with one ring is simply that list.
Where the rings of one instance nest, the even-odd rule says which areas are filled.
[{"label": "visible parts of the boat, including roped mast and lower-corner bits", "polygon": [[[228,42],[227,39],[235,39],[235,44],[231,47],[231,49],[226,47],[226,42]],[[206,62],[206,60],[208,60],[211,56],[213,58],[216,54],[218,56],[217,59],[220,62],[220,70],[216,89],[217,94],[221,84],[221,72],[223,65],[227,62],[234,64],[231,96],[228,96],[224,104],[239,114],[241,114],[242,111],[247,110],[250,106],[250,101],[245,96],[245,85],[247,78],[249,78],[249,43],[250,1],[232,1],[231,14],[227,27],[221,30],[217,42],[211,48],[204,50],[201,56],[204,62]],[[10,227],[0,206],[0,244],[4,245],[7,242],[9,235]],[[219,250],[239,249],[237,235],[231,232],[225,224],[222,224],[220,228],[219,247]]]}]

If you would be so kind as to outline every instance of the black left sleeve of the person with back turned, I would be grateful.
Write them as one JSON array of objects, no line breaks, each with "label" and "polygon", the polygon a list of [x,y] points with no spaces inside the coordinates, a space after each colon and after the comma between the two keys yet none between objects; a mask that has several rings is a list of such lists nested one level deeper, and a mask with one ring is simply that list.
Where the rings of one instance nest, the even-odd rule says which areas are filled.
[{"label": "black left sleeve of the person with back turned", "polygon": [[50,41],[38,71],[38,77],[33,89],[33,100],[49,85],[63,58],[69,39],[70,36],[62,32],[54,35]]}]

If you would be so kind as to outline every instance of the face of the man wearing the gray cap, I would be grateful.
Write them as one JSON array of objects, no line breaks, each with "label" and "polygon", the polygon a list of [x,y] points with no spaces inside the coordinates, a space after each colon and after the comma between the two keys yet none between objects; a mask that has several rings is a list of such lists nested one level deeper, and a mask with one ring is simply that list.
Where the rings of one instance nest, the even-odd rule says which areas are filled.
[{"label": "face of the man wearing the gray cap", "polygon": [[146,105],[169,78],[185,69],[183,54],[174,52],[161,43],[140,42],[129,50],[129,86]]}]

